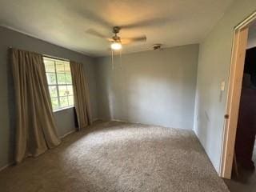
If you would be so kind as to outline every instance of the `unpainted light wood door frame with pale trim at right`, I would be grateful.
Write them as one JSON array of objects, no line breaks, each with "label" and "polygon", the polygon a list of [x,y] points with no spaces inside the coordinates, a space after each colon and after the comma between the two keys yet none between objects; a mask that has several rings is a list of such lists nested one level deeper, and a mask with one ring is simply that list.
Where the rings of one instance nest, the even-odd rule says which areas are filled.
[{"label": "unpainted light wood door frame with pale trim at right", "polygon": [[226,115],[222,138],[222,158],[219,171],[219,176],[222,178],[231,178],[248,29],[250,23],[254,21],[256,21],[256,12],[251,14],[250,17],[246,18],[234,28],[230,77],[226,102]]}]

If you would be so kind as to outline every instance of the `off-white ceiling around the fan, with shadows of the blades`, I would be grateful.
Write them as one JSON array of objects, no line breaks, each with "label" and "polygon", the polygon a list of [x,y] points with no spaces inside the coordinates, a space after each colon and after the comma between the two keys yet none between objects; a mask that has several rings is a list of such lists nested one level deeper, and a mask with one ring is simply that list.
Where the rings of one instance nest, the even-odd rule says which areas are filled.
[{"label": "off-white ceiling around the fan, with shadows of the blades", "polygon": [[124,53],[198,43],[233,0],[1,0],[0,25],[91,56],[110,54],[110,43],[86,34],[112,36],[112,26],[129,26],[120,36],[146,34],[147,42]]}]

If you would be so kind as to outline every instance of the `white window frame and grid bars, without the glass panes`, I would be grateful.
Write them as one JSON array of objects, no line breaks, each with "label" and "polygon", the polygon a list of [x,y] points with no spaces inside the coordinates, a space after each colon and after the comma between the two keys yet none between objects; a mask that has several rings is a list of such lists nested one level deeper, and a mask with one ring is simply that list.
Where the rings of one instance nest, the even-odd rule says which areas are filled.
[{"label": "white window frame and grid bars, without the glass panes", "polygon": [[[65,81],[66,81],[66,74],[70,74],[70,76],[72,78],[71,71],[70,71],[70,73],[66,73],[66,70],[65,70],[66,63],[63,63],[63,62],[67,62],[70,65],[70,61],[62,60],[62,59],[59,59],[59,58],[50,58],[50,57],[47,57],[47,56],[43,56],[43,61],[44,61],[45,69],[46,69],[46,63],[45,63],[46,60],[48,60],[50,62],[54,62],[54,72],[46,71],[46,76],[47,76],[47,74],[54,74],[54,77],[55,77],[55,83],[54,84],[50,84],[48,82],[48,78],[47,78],[48,90],[50,91],[50,87],[55,86],[56,87],[56,92],[57,92],[57,96],[56,97],[51,97],[51,95],[50,95],[51,105],[52,105],[52,98],[57,98],[57,100],[58,100],[58,108],[57,109],[54,109],[54,106],[52,105],[53,112],[58,112],[60,110],[66,110],[66,109],[74,108],[74,86],[73,86],[73,83],[72,82],[71,83],[67,83],[66,82],[66,83],[62,83],[62,84],[58,83],[58,74],[64,74],[65,75]],[[56,62],[60,62],[60,63],[62,62],[62,65],[64,66],[64,70],[63,70],[64,72],[58,72],[57,71],[57,64],[56,64]],[[66,91],[67,91],[67,87],[71,86],[72,94],[61,96],[60,95],[59,86],[66,86]],[[69,103],[69,97],[73,97],[73,104],[72,105],[70,105],[70,103]],[[66,98],[68,106],[61,106],[61,98]]]}]

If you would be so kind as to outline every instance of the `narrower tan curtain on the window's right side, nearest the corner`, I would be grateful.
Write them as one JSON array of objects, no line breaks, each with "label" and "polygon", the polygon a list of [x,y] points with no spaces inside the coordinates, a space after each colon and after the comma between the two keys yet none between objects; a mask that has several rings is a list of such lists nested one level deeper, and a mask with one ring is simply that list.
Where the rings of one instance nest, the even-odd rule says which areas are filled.
[{"label": "narrower tan curtain on the window's right side, nearest the corner", "polygon": [[78,117],[79,130],[92,123],[89,90],[81,63],[70,62],[74,89],[74,107]]}]

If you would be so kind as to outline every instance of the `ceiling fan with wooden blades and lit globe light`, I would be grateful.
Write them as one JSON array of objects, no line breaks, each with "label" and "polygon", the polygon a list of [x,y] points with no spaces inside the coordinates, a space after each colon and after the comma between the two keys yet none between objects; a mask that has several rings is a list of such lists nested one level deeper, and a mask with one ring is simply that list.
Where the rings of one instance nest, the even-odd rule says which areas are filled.
[{"label": "ceiling fan with wooden blades and lit globe light", "polygon": [[100,34],[98,33],[98,31],[93,29],[86,30],[86,33],[94,35],[98,38],[105,38],[107,41],[111,42],[110,47],[112,50],[121,50],[122,45],[130,44],[132,42],[146,42],[146,35],[142,35],[134,38],[121,38],[120,36],[118,36],[118,33],[120,32],[121,29],[122,27],[120,26],[114,26],[112,30],[114,36],[112,38],[108,38],[105,35]]}]

